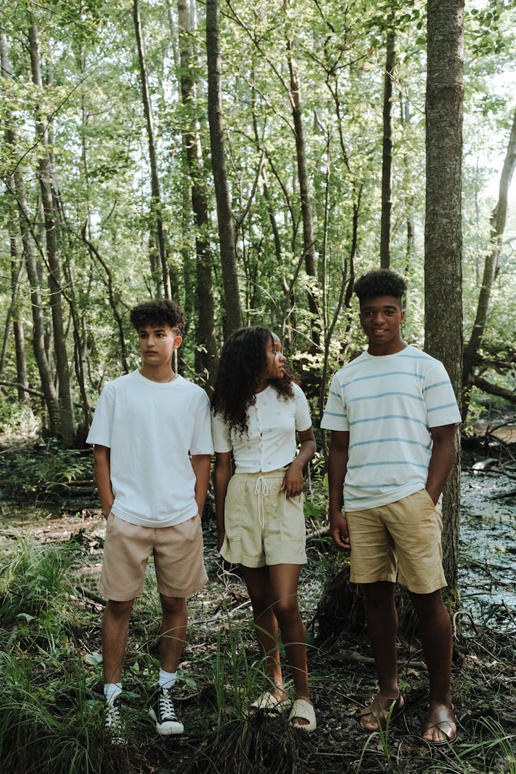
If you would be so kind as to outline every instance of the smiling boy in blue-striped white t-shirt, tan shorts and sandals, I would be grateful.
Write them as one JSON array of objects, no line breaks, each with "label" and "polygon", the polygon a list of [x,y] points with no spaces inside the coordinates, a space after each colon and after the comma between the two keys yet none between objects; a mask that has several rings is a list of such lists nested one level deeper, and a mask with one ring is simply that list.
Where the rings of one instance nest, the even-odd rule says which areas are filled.
[{"label": "smiling boy in blue-striped white t-shirt, tan shorts and sandals", "polygon": [[[460,412],[443,364],[402,340],[404,280],[388,269],[354,286],[368,348],[333,377],[321,427],[331,430],[330,532],[351,549],[362,584],[379,692],[358,713],[361,731],[384,728],[405,708],[398,690],[396,580],[419,619],[430,703],[422,738],[456,738],[450,697],[452,632],[439,498],[453,463]],[[344,514],[343,514],[344,509]]]}]

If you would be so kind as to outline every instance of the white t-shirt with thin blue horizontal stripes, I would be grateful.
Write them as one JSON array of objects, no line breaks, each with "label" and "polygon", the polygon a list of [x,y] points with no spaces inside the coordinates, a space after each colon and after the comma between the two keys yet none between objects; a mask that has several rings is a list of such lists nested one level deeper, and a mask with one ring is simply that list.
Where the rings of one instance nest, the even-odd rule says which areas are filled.
[{"label": "white t-shirt with thin blue horizontal stripes", "polygon": [[350,433],[344,509],[396,502],[425,488],[430,427],[460,422],[443,364],[405,347],[363,352],[333,376],[321,427]]}]

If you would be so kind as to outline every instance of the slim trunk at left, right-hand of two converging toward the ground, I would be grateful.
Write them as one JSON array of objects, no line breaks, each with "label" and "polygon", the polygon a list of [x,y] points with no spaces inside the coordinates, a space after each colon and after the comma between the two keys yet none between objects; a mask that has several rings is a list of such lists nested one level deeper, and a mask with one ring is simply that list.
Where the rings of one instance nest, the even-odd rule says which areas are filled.
[{"label": "slim trunk at left, right-hand of two converging toward the ground", "polygon": [[[39,39],[36,23],[29,14],[29,48],[32,68],[32,82],[43,89],[41,66],[39,62]],[[50,310],[52,311],[53,344],[56,355],[56,369],[60,397],[61,434],[67,446],[75,438],[75,420],[73,417],[70,393],[70,370],[68,367],[67,343],[63,324],[63,306],[61,288],[61,265],[57,249],[56,212],[52,195],[52,163],[49,153],[48,122],[36,105],[36,132],[44,153],[39,160],[39,187],[45,221],[46,258],[49,265]]]}]

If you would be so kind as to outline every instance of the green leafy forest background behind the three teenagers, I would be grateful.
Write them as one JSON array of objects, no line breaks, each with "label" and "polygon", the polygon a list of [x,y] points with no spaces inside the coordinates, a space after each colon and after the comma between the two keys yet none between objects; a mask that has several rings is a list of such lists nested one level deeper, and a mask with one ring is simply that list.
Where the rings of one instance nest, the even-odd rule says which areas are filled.
[{"label": "green leafy forest background behind the three teenagers", "polygon": [[[0,27],[3,432],[84,437],[104,383],[138,365],[128,310],[155,296],[186,311],[179,369],[207,389],[227,333],[270,325],[314,416],[363,345],[362,272],[405,276],[423,345],[422,2],[22,0]],[[514,403],[514,29],[511,3],[466,9],[473,419]]]}]

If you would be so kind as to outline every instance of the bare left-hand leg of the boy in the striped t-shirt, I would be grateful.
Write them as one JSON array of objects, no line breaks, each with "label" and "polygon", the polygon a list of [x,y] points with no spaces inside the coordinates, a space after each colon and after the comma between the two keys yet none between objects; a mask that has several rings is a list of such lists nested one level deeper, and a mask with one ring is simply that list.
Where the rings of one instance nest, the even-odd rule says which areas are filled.
[{"label": "bare left-hand leg of the boy in the striped t-shirt", "polygon": [[[379,695],[388,704],[398,696],[398,663],[396,634],[398,611],[395,605],[395,584],[386,580],[362,584],[364,590],[367,632],[378,674]],[[363,715],[361,725],[367,731],[376,731],[378,722],[373,714]]]}]

